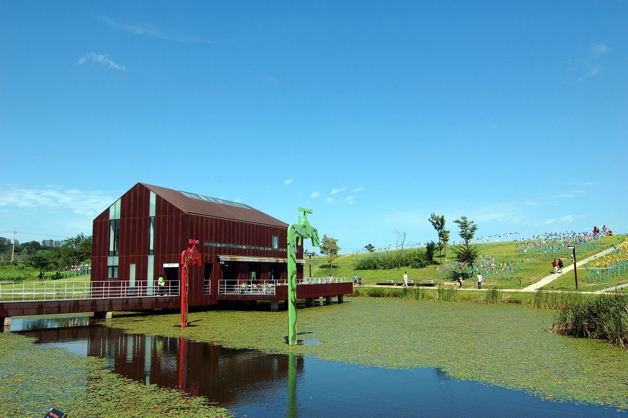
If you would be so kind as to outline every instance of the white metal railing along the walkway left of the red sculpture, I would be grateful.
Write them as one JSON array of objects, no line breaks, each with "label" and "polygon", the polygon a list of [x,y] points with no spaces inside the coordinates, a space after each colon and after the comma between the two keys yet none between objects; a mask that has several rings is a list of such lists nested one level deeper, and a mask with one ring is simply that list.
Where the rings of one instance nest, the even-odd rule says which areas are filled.
[{"label": "white metal railing along the walkway left of the red sculpture", "polygon": [[7,282],[0,283],[0,302],[178,296],[179,289],[178,280],[166,282],[163,289],[159,289],[157,282],[148,283],[146,280],[138,280],[133,286],[117,280]]}]

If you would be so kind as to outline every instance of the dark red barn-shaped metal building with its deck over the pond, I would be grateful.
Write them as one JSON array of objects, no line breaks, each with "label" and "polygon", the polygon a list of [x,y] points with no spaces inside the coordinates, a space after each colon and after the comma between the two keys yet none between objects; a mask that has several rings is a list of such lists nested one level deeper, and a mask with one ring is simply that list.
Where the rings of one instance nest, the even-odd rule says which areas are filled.
[{"label": "dark red barn-shaped metal building with its deck over the pond", "polygon": [[[288,299],[287,232],[288,224],[246,204],[138,183],[94,219],[92,282],[156,296],[163,274],[166,288],[173,285],[165,293],[178,294],[181,252],[188,239],[197,239],[202,265],[189,268],[190,306],[271,300],[276,309],[278,300]],[[301,283],[303,260],[297,277]],[[297,292],[311,299],[351,289],[350,283],[317,283],[300,284]]]}]

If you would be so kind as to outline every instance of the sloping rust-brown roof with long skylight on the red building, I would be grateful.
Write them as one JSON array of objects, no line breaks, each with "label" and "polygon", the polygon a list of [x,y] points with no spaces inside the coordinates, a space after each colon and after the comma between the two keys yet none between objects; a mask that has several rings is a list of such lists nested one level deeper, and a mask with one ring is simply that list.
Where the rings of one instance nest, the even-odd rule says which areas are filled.
[{"label": "sloping rust-brown roof with long skylight on the red building", "polygon": [[151,184],[140,184],[187,214],[288,228],[288,224],[243,203],[225,201],[224,199],[216,199],[215,197],[190,192],[181,192],[180,190],[166,189],[165,187]]}]

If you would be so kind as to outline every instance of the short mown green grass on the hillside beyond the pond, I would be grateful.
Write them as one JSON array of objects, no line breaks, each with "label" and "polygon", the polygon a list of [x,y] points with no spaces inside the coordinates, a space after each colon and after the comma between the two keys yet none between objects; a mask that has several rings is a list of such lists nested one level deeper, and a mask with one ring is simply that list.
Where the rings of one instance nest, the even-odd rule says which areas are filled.
[{"label": "short mown green grass on the hillside beyond the pond", "polygon": [[[577,260],[582,260],[587,256],[593,255],[599,251],[604,250],[610,245],[617,243],[622,239],[622,235],[605,236],[603,239],[604,246],[598,250],[592,251],[587,254],[577,253]],[[499,242],[499,243],[479,243],[477,248],[481,254],[489,254],[495,256],[495,261],[502,262],[508,260],[525,260],[520,272],[515,272],[514,275],[510,275],[507,278],[494,279],[491,277],[485,278],[484,287],[497,286],[503,289],[519,289],[518,277],[522,277],[522,282],[525,285],[530,285],[538,281],[539,279],[548,275],[553,269],[551,267],[551,259],[538,256],[538,255],[522,255],[515,250],[516,243]],[[450,263],[453,261],[453,248],[452,246],[447,248],[447,257],[443,257],[443,263]],[[416,249],[406,249],[404,251],[416,251]],[[393,270],[354,270],[355,257],[360,255],[346,254],[341,255],[334,261],[333,268],[328,266],[328,258],[325,256],[312,257],[312,276],[313,277],[325,277],[332,273],[335,277],[352,277],[354,273],[364,280],[367,285],[374,285],[376,282],[386,282],[386,280],[394,280],[396,282],[403,282],[403,272],[408,272],[408,277],[415,281],[435,280],[435,282],[443,281],[443,278],[438,277],[435,265],[431,265],[425,268],[410,268],[401,267]],[[527,260],[529,258],[529,261]],[[435,261],[440,261],[436,256]],[[563,258],[565,267],[571,265],[571,258]],[[306,260],[305,275],[309,273],[309,267]],[[565,279],[567,280],[567,279]],[[571,283],[573,283],[573,273],[571,273]],[[476,287],[477,283],[475,279],[466,280],[463,287]]]}]

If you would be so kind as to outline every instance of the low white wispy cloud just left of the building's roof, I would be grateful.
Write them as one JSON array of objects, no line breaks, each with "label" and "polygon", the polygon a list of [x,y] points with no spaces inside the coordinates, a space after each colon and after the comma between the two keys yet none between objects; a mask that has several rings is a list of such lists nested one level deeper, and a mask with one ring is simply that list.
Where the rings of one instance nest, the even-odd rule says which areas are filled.
[{"label": "low white wispy cloud just left of the building's roof", "polygon": [[44,186],[38,189],[17,185],[0,185],[0,206],[16,206],[24,209],[55,207],[75,214],[94,217],[104,211],[117,197],[103,190],[78,190],[61,186]]}]

